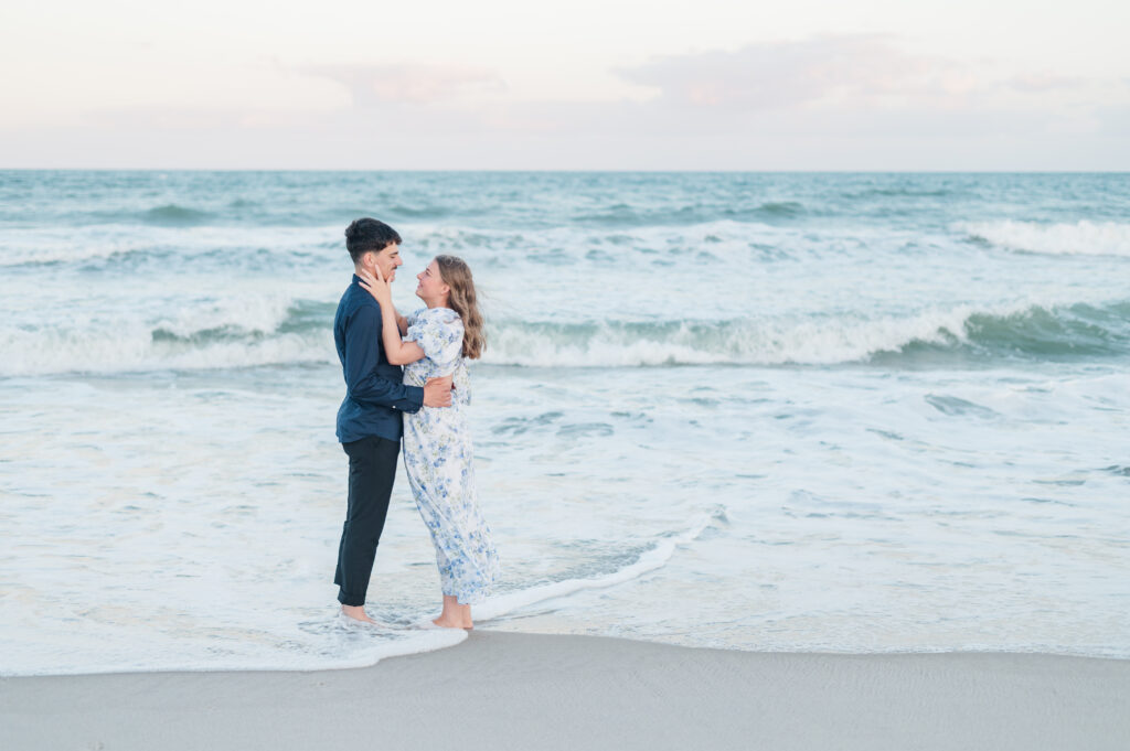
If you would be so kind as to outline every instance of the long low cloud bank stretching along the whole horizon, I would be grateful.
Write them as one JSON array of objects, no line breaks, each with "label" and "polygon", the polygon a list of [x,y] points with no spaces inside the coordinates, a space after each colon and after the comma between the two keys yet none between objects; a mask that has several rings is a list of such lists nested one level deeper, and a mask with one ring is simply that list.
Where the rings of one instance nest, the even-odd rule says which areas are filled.
[{"label": "long low cloud bank stretching along the whole horizon", "polygon": [[[649,99],[527,101],[453,64],[295,69],[320,106],[104,111],[0,124],[9,166],[484,169],[1125,169],[1127,80],[824,36],[620,69]],[[293,76],[301,73],[299,76]],[[502,95],[499,95],[502,91]],[[348,94],[348,96],[347,96]],[[351,101],[351,104],[350,104]],[[358,116],[362,115],[362,116]]]}]

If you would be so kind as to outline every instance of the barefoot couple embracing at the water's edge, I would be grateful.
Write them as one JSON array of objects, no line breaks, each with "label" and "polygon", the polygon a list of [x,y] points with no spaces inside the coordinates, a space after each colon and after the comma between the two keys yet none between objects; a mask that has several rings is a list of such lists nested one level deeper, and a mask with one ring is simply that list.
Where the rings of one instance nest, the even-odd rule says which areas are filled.
[{"label": "barefoot couple embracing at the water's edge", "polygon": [[[432,534],[443,611],[432,622],[471,628],[471,604],[498,575],[498,556],[475,491],[466,359],[486,344],[471,271],[437,255],[417,274],[426,307],[408,316],[392,305],[400,235],[376,219],[346,229],[354,278],[333,320],[346,381],[338,440],[349,456],[349,501],[333,583],[346,617],[373,622],[365,595],[389,512],[403,438],[405,470]],[[403,366],[403,368],[401,368]]]}]

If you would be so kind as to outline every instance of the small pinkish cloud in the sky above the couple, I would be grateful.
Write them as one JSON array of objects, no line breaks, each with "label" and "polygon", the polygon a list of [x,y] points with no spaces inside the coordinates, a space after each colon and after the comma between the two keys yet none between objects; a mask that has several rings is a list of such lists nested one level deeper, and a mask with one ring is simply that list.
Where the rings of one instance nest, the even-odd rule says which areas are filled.
[{"label": "small pinkish cloud in the sky above the couple", "polygon": [[435,104],[457,99],[468,90],[505,86],[494,71],[455,64],[320,66],[303,72],[344,84],[360,107]]}]

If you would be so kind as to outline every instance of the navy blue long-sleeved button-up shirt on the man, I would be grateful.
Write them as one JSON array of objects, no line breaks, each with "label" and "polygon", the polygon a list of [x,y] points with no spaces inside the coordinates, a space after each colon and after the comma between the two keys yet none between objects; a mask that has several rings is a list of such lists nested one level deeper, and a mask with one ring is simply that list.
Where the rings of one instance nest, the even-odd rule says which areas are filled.
[{"label": "navy blue long-sleeved button-up shirt on the man", "polygon": [[338,409],[338,440],[346,444],[370,436],[400,440],[400,412],[424,405],[424,390],[406,386],[399,365],[384,357],[381,306],[354,274],[333,316],[333,341],[346,378],[346,398]]}]

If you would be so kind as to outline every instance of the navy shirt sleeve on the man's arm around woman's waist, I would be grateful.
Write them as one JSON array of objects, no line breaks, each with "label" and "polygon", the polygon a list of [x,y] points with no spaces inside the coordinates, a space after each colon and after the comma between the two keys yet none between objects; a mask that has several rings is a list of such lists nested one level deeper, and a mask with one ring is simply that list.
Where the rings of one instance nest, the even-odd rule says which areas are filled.
[{"label": "navy shirt sleeve on the man's arm around woman's waist", "polygon": [[373,305],[357,308],[345,326],[344,368],[346,391],[357,402],[417,412],[424,405],[424,390],[406,386],[376,372],[381,361],[381,311]]}]

